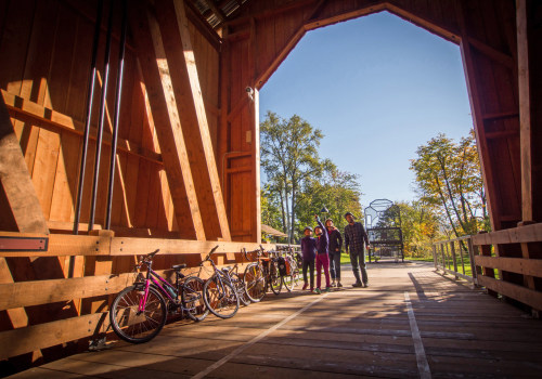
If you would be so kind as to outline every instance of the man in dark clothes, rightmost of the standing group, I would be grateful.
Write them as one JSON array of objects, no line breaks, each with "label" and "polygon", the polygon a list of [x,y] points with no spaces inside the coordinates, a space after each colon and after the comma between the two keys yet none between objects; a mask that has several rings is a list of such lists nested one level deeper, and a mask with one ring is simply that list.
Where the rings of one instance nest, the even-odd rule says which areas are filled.
[{"label": "man in dark clothes, rightmost of the standing group", "polygon": [[[348,225],[345,226],[345,250],[350,254],[350,263],[352,263],[352,272],[353,276],[356,276],[356,283],[352,287],[369,287],[365,253],[363,251],[363,241],[365,241],[367,249],[371,248],[369,236],[361,222],[356,222],[352,213],[347,212],[345,219],[348,221]],[[360,266],[363,283],[360,279]]]}]

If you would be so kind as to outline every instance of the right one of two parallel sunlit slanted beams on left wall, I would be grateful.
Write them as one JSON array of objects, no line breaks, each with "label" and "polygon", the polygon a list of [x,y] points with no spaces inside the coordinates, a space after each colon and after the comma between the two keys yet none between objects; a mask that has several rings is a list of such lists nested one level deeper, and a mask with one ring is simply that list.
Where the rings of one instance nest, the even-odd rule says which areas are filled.
[{"label": "right one of two parallel sunlit slanted beams on left wall", "polygon": [[215,152],[212,149],[212,141],[210,139],[210,133],[209,133],[209,125],[207,122],[207,116],[205,113],[205,102],[202,95],[202,88],[199,86],[199,78],[197,76],[197,67],[194,56],[194,50],[192,48],[186,14],[184,11],[184,1],[182,0],[176,1],[173,5],[177,15],[179,35],[181,36],[182,40],[184,63],[186,65],[188,79],[190,82],[190,88],[192,90],[192,100],[194,102],[197,126],[199,128],[199,134],[202,138],[206,169],[209,175],[212,197],[215,200],[215,207],[218,213],[220,232],[224,240],[231,240],[230,226],[228,224],[224,199],[222,197],[222,190],[220,186],[220,179],[217,170],[217,161],[215,158]]}]

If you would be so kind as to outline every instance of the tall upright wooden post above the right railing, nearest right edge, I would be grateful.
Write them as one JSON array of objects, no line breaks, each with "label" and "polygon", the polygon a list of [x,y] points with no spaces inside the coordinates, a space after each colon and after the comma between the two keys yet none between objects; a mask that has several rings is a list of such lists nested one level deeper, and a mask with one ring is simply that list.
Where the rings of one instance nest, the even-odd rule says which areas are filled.
[{"label": "tall upright wooden post above the right railing, nearest right edge", "polygon": [[532,221],[531,110],[529,89],[529,43],[526,0],[516,1],[517,75],[519,92],[519,144],[521,165],[521,217]]}]

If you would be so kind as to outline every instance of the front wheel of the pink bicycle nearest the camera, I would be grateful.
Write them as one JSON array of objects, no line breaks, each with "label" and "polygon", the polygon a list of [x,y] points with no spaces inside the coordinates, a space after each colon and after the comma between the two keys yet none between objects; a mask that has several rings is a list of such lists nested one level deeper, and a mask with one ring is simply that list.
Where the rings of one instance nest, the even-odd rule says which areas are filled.
[{"label": "front wheel of the pink bicycle nearest the camera", "polygon": [[162,293],[149,288],[145,311],[139,313],[139,303],[144,291],[130,286],[121,290],[111,306],[109,322],[115,334],[130,343],[143,343],[155,338],[166,325],[167,306]]}]

